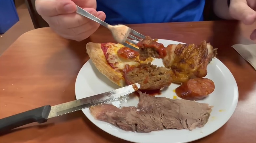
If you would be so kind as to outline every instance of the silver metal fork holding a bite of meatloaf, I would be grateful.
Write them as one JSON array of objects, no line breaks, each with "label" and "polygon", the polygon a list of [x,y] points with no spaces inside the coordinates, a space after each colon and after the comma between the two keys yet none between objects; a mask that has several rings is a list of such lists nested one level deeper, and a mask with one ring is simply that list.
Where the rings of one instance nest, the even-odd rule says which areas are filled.
[{"label": "silver metal fork holding a bite of meatloaf", "polygon": [[[87,12],[86,10],[80,8],[79,6],[76,5],[76,7],[77,7],[76,13],[78,13],[82,16],[85,16],[85,17],[105,26],[106,28],[108,28],[111,31],[114,39],[118,43],[124,45],[125,47],[131,48],[135,51],[139,51],[138,48],[135,48],[134,46],[128,44],[127,42],[137,45],[137,43],[134,40],[139,42],[141,39],[145,38],[144,35],[131,29],[130,27],[122,25],[122,24],[118,24],[118,25],[107,24],[106,22],[98,19],[96,16],[94,16],[91,13]],[[137,38],[135,36],[137,36],[139,38]]]}]

